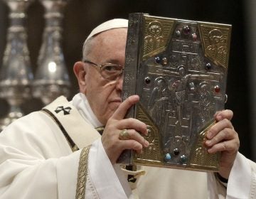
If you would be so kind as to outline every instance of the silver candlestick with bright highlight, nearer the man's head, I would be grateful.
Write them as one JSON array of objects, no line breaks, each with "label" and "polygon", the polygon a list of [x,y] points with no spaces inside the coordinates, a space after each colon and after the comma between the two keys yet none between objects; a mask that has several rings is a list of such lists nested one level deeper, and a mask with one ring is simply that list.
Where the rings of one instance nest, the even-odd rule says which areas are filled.
[{"label": "silver candlestick with bright highlight, nearer the man's head", "polygon": [[69,95],[70,79],[60,45],[63,9],[67,0],[41,0],[41,3],[46,10],[46,27],[33,81],[33,96],[48,104],[60,95]]}]

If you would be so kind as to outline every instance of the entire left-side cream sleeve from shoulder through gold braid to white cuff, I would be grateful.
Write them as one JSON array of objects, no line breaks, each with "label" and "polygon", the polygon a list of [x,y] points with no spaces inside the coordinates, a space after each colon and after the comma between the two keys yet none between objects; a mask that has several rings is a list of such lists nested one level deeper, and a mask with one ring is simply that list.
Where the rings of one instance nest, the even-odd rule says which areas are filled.
[{"label": "entire left-side cream sleeve from shoulder through gold braid to white cuff", "polygon": [[100,139],[72,152],[58,127],[47,123],[31,114],[0,134],[1,199],[128,198]]}]

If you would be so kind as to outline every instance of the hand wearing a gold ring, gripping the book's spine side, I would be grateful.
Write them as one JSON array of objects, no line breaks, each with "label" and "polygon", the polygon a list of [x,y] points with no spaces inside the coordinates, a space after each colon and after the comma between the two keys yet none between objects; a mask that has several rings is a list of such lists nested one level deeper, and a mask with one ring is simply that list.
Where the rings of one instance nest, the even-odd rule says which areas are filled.
[{"label": "hand wearing a gold ring, gripping the book's spine side", "polygon": [[[149,142],[138,133],[147,134],[146,124],[138,119],[124,119],[127,110],[137,102],[139,102],[138,95],[128,97],[107,121],[102,134],[102,145],[112,164],[116,163],[124,149],[133,149],[137,153],[142,153],[142,148],[149,146]],[[122,129],[128,130],[129,139],[119,139],[119,133]]]}]

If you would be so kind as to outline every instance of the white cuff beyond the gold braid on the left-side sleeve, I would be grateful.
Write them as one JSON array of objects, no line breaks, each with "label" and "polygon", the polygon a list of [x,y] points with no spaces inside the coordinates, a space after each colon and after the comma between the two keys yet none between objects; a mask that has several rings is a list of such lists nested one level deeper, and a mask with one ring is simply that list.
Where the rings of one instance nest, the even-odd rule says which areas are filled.
[{"label": "white cuff beyond the gold braid on the left-side sleeve", "polygon": [[[132,198],[121,168],[112,166],[100,139],[90,149],[85,198]],[[96,197],[95,197],[96,196]]]}]

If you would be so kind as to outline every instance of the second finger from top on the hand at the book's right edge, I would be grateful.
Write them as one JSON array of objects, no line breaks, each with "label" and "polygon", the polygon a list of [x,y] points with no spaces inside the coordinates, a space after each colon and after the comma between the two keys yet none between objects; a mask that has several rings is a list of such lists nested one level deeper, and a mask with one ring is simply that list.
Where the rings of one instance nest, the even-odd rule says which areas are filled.
[{"label": "second finger from top on the hand at the book's right edge", "polygon": [[206,138],[212,139],[216,134],[218,134],[220,131],[222,131],[225,128],[234,129],[233,125],[228,119],[223,119],[220,122],[217,122],[216,124],[214,124],[213,127],[210,127],[210,129],[206,134]]}]

